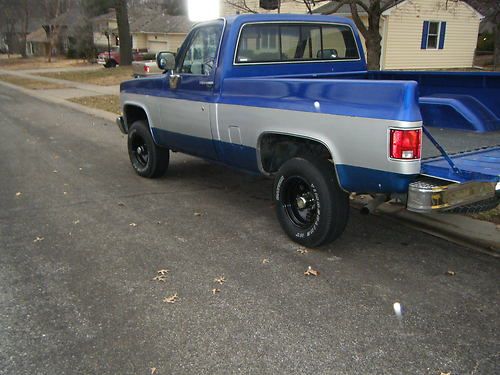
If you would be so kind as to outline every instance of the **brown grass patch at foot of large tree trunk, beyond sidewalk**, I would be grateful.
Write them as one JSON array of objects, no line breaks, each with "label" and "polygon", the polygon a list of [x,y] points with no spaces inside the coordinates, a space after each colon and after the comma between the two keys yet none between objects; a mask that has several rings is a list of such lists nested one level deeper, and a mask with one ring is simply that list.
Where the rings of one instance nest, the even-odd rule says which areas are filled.
[{"label": "brown grass patch at foot of large tree trunk, beyond sidewalk", "polygon": [[65,79],[82,83],[90,83],[100,86],[118,85],[123,81],[132,79],[131,66],[119,66],[117,68],[102,68],[91,71],[43,73],[42,77]]}]

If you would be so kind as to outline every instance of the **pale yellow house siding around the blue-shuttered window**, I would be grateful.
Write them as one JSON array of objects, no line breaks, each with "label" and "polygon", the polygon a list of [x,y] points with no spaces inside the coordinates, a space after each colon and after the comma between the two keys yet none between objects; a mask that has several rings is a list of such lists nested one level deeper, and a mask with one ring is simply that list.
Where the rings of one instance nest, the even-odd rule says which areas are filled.
[{"label": "pale yellow house siding around the blue-shuttered window", "polygon": [[[382,69],[472,66],[480,15],[467,4],[461,1],[407,0],[391,8],[385,17]],[[443,49],[421,49],[424,21],[446,22]]]}]

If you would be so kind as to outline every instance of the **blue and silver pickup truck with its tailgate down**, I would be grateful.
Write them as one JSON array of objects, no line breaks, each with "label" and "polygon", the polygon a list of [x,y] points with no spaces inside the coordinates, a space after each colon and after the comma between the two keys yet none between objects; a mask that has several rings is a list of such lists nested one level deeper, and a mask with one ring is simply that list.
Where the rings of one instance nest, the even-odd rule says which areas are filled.
[{"label": "blue and silver pickup truck with its tailgate down", "polygon": [[417,212],[498,204],[498,73],[368,71],[352,21],[287,14],[200,23],[157,63],[120,88],[137,174],[180,151],[272,177],[302,245],[341,235],[352,192]]}]

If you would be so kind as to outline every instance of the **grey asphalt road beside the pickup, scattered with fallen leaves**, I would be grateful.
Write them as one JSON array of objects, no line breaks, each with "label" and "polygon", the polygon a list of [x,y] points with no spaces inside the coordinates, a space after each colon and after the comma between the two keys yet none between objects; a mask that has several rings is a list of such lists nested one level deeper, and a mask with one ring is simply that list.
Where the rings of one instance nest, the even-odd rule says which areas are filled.
[{"label": "grey asphalt road beside the pickup, scattered with fallen leaves", "polygon": [[266,179],[146,180],[114,124],[3,86],[0,114],[1,374],[498,373],[497,259],[355,211],[300,254]]}]

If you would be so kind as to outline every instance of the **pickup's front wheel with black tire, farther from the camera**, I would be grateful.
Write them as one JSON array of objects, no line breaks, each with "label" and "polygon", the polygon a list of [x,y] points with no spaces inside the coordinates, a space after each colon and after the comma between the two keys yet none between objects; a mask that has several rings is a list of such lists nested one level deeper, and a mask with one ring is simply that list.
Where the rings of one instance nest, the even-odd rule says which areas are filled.
[{"label": "pickup's front wheel with black tire, farther from the camera", "polygon": [[132,124],[127,144],[130,162],[139,176],[156,178],[165,174],[170,161],[169,150],[154,143],[145,121]]}]

